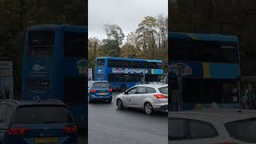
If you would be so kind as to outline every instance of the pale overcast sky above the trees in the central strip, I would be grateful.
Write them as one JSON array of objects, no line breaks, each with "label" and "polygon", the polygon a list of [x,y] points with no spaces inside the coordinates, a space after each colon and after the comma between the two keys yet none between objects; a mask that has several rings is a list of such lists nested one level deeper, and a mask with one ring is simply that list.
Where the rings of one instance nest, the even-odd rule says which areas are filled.
[{"label": "pale overcast sky above the trees in the central strip", "polygon": [[106,38],[105,24],[121,26],[124,34],[134,31],[142,18],[168,14],[168,0],[88,0],[89,38]]}]

